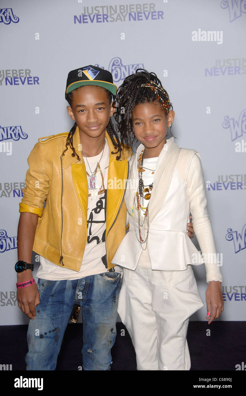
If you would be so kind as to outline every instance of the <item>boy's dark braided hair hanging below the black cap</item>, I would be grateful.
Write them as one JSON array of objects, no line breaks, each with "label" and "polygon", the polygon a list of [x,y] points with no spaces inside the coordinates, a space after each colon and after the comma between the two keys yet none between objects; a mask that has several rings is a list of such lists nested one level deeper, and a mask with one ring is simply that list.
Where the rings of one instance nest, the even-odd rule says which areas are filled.
[{"label": "boy's dark braided hair hanging below the black cap", "polygon": [[[74,89],[73,91],[71,91],[71,92],[68,93],[68,95],[67,95],[67,101],[68,101],[68,103],[69,103],[70,106],[72,105],[72,96],[73,96],[72,94],[73,94],[74,91],[76,91],[76,90],[79,89],[79,88],[81,88],[81,87],[78,87],[78,88],[76,88],[76,89]],[[109,99],[109,103],[111,103],[111,102],[113,101],[113,96],[112,96],[111,92],[108,91],[107,89],[103,88],[103,87],[101,87],[101,88],[104,89],[104,90],[106,91],[107,96],[108,96],[108,99]],[[114,103],[113,103],[113,107],[115,108]],[[63,155],[65,154],[65,152],[67,151],[68,147],[70,147],[70,148],[72,149],[72,154],[71,154],[72,157],[77,156],[78,161],[80,161],[80,157],[78,156],[78,154],[77,154],[76,151],[75,151],[75,148],[73,147],[73,135],[74,135],[74,133],[75,133],[75,131],[76,131],[76,127],[77,127],[77,124],[76,124],[76,122],[74,122],[74,125],[73,125],[72,128],[70,129],[69,134],[68,134],[68,137],[67,137],[66,148],[65,148],[65,150],[63,151],[63,153],[62,153],[61,155],[63,156]],[[121,144],[120,144],[120,139],[119,139],[119,137],[118,137],[118,134],[117,134],[116,131],[114,130],[114,126],[113,126],[113,124],[112,124],[111,117],[109,118],[109,124],[107,125],[107,128],[106,128],[106,129],[107,129],[107,133],[108,133],[108,135],[109,135],[109,137],[110,137],[110,139],[111,139],[111,142],[112,142],[113,145],[114,145],[115,150],[118,149],[116,152],[113,152],[113,151],[112,151],[111,154],[117,154],[117,153],[119,152],[119,155],[116,156],[116,160],[119,160],[120,157],[121,157],[122,147],[121,147]],[[116,141],[115,141],[114,138],[116,139]]]}]

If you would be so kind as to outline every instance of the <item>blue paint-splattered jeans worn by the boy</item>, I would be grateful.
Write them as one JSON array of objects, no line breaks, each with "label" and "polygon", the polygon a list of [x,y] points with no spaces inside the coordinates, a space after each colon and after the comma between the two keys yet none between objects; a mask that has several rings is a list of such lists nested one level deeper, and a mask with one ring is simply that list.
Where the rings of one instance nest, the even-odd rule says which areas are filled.
[{"label": "blue paint-splattered jeans worn by the boy", "polygon": [[80,305],[83,317],[83,369],[110,370],[120,274],[106,272],[60,281],[38,279],[37,285],[40,304],[27,332],[27,370],[55,370],[74,304]]}]

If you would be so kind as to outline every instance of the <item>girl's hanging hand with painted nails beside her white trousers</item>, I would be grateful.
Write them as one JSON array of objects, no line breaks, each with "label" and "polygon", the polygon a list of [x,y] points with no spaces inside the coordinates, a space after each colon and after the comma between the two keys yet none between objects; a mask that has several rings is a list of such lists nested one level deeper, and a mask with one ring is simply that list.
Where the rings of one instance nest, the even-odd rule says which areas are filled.
[{"label": "girl's hanging hand with painted nails beside her white trousers", "polygon": [[224,310],[221,282],[213,280],[208,283],[208,288],[206,290],[206,303],[208,312],[206,319],[209,319],[208,324],[210,324],[214,319],[217,319]]}]

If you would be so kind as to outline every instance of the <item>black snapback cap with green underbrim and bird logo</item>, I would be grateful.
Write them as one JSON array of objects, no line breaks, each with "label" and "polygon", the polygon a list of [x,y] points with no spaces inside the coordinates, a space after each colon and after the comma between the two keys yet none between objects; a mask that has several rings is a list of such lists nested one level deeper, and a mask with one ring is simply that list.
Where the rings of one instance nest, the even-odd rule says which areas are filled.
[{"label": "black snapback cap with green underbrim and bird logo", "polygon": [[113,83],[111,72],[108,70],[92,65],[72,70],[67,76],[65,98],[67,99],[67,94],[69,92],[84,85],[97,85],[103,87],[110,91],[115,99],[114,95],[116,94],[117,87]]}]

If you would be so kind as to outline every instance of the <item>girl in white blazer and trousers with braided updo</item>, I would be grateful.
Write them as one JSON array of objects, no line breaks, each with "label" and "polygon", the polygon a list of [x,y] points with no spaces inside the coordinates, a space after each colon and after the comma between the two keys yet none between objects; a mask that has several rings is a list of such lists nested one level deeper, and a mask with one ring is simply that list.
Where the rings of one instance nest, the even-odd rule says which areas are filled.
[{"label": "girl in white blazer and trousers with braided updo", "polygon": [[[116,100],[121,141],[129,145],[135,135],[141,143],[130,161],[125,194],[129,232],[112,261],[124,267],[118,312],[132,337],[138,370],[189,370],[189,317],[203,307],[192,264],[205,262],[209,324],[223,311],[200,155],[180,149],[174,137],[166,140],[174,111],[156,74],[138,69],[124,80]],[[202,257],[187,236],[190,211]]]}]

